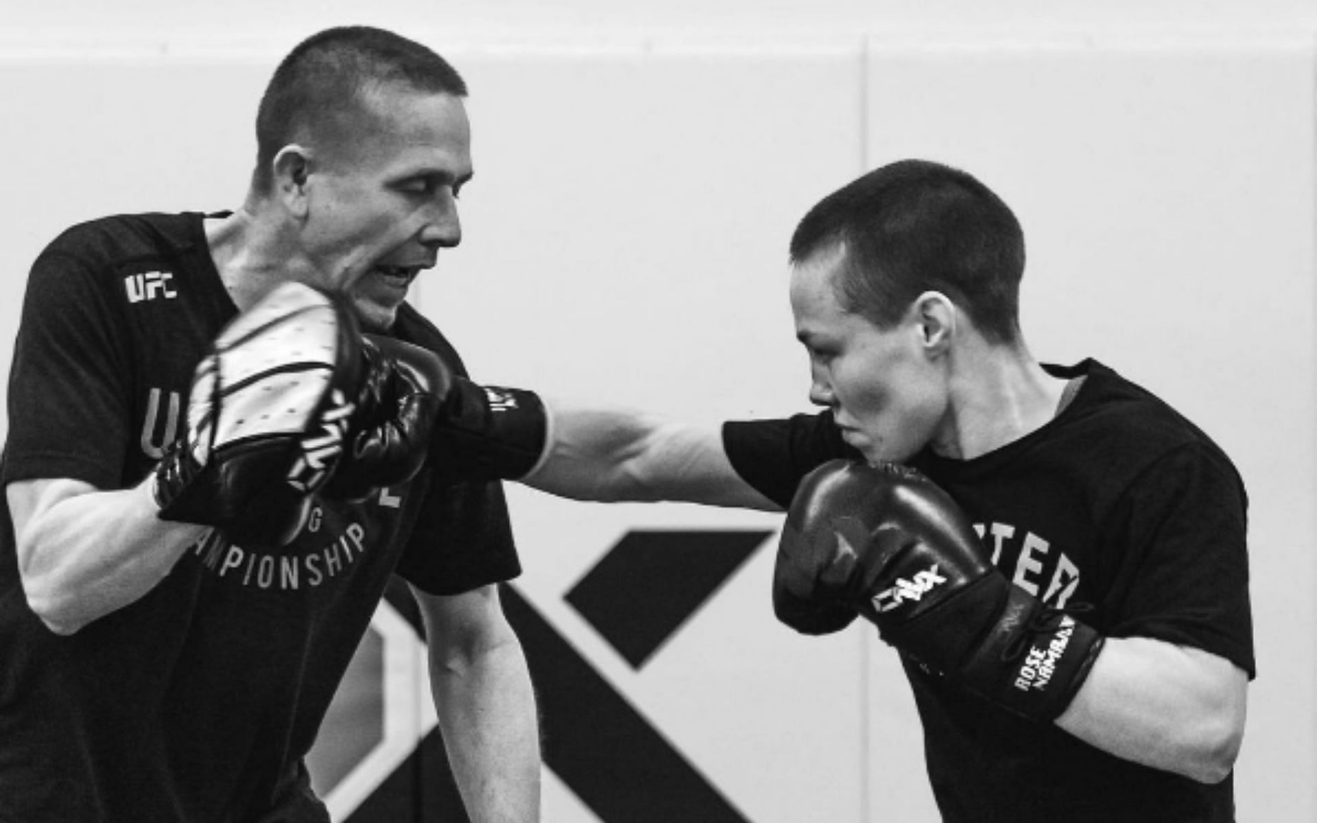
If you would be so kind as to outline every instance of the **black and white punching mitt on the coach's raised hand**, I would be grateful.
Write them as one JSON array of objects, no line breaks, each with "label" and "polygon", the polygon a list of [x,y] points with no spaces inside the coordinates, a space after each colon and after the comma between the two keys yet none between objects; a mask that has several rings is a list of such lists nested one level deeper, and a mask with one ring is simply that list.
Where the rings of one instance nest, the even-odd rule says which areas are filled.
[{"label": "black and white punching mitt on the coach's raised hand", "polygon": [[290,543],[337,467],[361,381],[346,302],[303,283],[274,288],[198,363],[180,438],[151,490],[165,520],[240,545]]}]

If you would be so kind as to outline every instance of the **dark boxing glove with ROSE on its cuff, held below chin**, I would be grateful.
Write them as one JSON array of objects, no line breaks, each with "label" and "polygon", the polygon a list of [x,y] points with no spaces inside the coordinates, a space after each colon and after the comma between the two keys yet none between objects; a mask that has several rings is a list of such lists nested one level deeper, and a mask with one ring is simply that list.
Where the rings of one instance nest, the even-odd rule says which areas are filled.
[{"label": "dark boxing glove with ROSE on its cuff, held below chin", "polygon": [[1102,636],[1013,586],[959,506],[913,469],[832,461],[802,481],[773,574],[777,618],[806,633],[855,615],[890,645],[1026,718],[1058,718]]}]

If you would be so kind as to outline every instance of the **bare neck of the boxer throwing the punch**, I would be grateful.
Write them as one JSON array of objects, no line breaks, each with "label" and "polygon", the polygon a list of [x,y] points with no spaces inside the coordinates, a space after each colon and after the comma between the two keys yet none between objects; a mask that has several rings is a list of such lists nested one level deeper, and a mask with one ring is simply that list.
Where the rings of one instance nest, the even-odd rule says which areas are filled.
[{"label": "bare neck of the boxer throwing the punch", "polygon": [[951,363],[951,403],[934,438],[943,457],[971,460],[1042,428],[1055,415],[1065,381],[1034,359],[1023,341],[957,352]]}]

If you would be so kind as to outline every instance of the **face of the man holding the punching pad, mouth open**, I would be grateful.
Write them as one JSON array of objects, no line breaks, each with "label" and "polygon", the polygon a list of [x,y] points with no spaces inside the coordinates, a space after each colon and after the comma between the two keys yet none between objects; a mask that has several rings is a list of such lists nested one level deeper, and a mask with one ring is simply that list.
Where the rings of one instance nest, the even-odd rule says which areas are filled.
[{"label": "face of the man holding the punching pad, mouth open", "polygon": [[367,329],[392,325],[412,279],[462,237],[457,194],[471,176],[460,97],[383,87],[321,153],[309,179],[306,248],[328,288],[346,290]]}]

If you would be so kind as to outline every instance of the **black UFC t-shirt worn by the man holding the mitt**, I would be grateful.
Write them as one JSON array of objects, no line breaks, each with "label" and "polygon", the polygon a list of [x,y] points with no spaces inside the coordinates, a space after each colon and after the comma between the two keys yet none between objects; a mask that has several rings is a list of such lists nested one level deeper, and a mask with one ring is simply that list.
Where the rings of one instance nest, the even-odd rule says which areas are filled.
[{"label": "black UFC t-shirt worn by the man holding the mitt", "polygon": [[[203,216],[97,220],[37,259],[9,381],[5,483],[140,483],[236,315]],[[462,366],[410,305],[395,333]],[[317,499],[278,550],[213,532],[138,600],[70,636],[30,611],[0,531],[0,820],[327,820],[303,756],[394,571],[456,594],[520,571],[498,483],[423,470]]]}]

